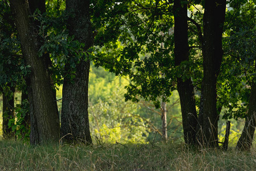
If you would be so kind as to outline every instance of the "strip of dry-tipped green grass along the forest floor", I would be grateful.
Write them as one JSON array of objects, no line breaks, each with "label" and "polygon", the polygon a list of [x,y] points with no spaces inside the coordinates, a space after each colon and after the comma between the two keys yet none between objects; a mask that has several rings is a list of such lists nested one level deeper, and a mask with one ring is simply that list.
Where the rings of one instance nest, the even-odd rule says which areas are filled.
[{"label": "strip of dry-tipped green grass along the forest floor", "polygon": [[0,170],[254,170],[256,153],[182,143],[30,146],[0,141]]}]

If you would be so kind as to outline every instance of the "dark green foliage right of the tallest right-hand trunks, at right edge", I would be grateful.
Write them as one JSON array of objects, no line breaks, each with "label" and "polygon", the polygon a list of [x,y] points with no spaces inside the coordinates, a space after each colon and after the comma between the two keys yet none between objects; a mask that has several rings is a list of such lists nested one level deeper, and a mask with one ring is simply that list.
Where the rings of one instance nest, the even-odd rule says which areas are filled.
[{"label": "dark green foliage right of the tallest right-hand trunks, at right edge", "polygon": [[233,3],[226,16],[226,55],[218,78],[218,105],[226,108],[224,119],[246,116],[255,75],[255,4],[249,1],[238,7]]}]

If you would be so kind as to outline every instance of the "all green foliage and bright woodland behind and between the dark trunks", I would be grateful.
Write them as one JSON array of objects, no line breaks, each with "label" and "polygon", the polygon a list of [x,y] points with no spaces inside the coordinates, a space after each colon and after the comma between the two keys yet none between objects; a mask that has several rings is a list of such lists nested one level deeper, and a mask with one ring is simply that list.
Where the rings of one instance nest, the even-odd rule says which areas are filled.
[{"label": "all green foliage and bright woodland behind and between the dark trunks", "polygon": [[[75,82],[78,66],[88,60],[92,66],[88,88],[90,128],[94,141],[98,143],[153,141],[156,136],[152,132],[163,136],[161,118],[165,102],[168,135],[170,139],[181,137],[181,110],[177,105],[176,91],[178,80],[192,81],[195,115],[199,118],[206,115],[202,92],[207,84],[206,67],[210,66],[205,62],[205,35],[209,31],[205,24],[205,4],[209,1],[175,2],[179,2],[181,8],[186,7],[188,12],[188,59],[178,64],[174,53],[177,48],[174,44],[177,42],[177,38],[174,39],[177,6],[173,1],[91,1],[90,18],[94,31],[90,34],[93,35],[94,46],[90,47],[87,47],[87,42],[79,42],[70,35],[67,22],[76,16],[72,13],[74,11],[66,11],[64,1],[46,1],[46,13],[36,10],[31,14],[32,21],[39,23],[36,34],[42,46],[38,55],[40,58],[46,54],[50,56],[47,72],[52,87],[59,89],[56,101],[60,119],[63,79]],[[9,91],[11,87],[27,93],[25,80],[32,71],[31,66],[25,64],[10,3],[1,0],[0,6],[0,90],[5,96],[13,97]],[[212,74],[213,78],[216,76],[214,86],[217,91],[217,96],[213,95],[217,111],[214,120],[218,121],[220,116],[225,121],[231,120],[233,135],[242,129],[235,120],[248,121],[248,109],[253,103],[249,97],[256,84],[255,7],[255,1],[227,1],[225,22],[220,26],[223,27],[220,49],[224,55],[218,56],[221,59],[220,70],[217,68],[216,74]],[[211,64],[217,63],[213,60]],[[24,103],[16,105],[13,110],[16,115],[9,120],[9,127],[16,136],[28,139],[30,129],[23,125],[26,123],[25,113],[29,113],[27,101],[24,99]],[[197,121],[200,123],[199,119]],[[217,124],[221,126],[218,131],[222,142],[225,131],[220,123],[224,121]]]}]

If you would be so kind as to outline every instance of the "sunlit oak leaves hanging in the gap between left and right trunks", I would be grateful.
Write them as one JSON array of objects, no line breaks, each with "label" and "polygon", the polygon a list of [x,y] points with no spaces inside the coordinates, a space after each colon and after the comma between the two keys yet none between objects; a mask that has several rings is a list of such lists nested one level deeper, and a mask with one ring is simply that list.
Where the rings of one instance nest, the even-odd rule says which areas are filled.
[{"label": "sunlit oak leaves hanging in the gap between left and right trunks", "polygon": [[[115,13],[121,9],[123,13]],[[165,1],[127,1],[115,4],[106,13],[111,19],[103,21],[104,27],[96,36],[95,43],[103,48],[96,48],[95,64],[116,75],[129,76],[126,100],[139,101],[141,96],[159,107],[157,97],[166,101],[174,89],[173,17],[167,13],[170,9],[172,3]],[[97,24],[97,20],[93,21]],[[115,39],[112,36],[104,44],[97,42],[110,30],[115,30]]]}]

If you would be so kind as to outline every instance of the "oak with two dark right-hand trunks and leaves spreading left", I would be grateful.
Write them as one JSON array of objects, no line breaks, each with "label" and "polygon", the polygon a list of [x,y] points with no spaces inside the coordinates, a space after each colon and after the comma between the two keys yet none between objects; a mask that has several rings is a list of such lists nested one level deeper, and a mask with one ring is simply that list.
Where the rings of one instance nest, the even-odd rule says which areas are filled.
[{"label": "oak with two dark right-hand trunks and leaves spreading left", "polygon": [[[202,82],[199,89],[201,91],[201,102],[198,120],[193,102],[193,87],[191,82],[189,82],[190,67],[193,64],[184,63],[185,60],[188,60],[189,49],[187,48],[193,48],[194,44],[191,40],[189,42],[191,47],[188,47],[187,43],[185,43],[185,46],[183,46],[185,50],[182,53],[180,52],[181,47],[178,45],[178,39],[186,39],[185,42],[188,42],[188,39],[194,39],[193,36],[187,38],[186,33],[188,20],[188,18],[186,19],[186,6],[189,5],[188,2],[176,1],[173,6],[173,2],[169,1],[139,1],[122,2],[119,5],[113,6],[112,11],[117,11],[122,7],[127,7],[128,9],[123,10],[125,11],[123,13],[114,15],[113,18],[116,17],[117,20],[118,17],[119,21],[115,23],[116,28],[111,28],[119,35],[118,40],[120,40],[124,47],[117,48],[117,55],[113,55],[111,58],[109,55],[109,52],[111,53],[112,51],[111,47],[116,48],[117,43],[105,43],[105,52],[100,51],[95,54],[97,56],[96,64],[108,68],[109,71],[115,72],[117,75],[130,76],[132,82],[127,86],[128,93],[125,95],[127,100],[139,101],[137,97],[141,96],[147,100],[155,101],[156,107],[160,107],[160,101],[157,100],[157,97],[164,97],[164,101],[166,101],[171,92],[176,89],[176,79],[178,79],[179,88],[182,87],[182,84],[187,84],[184,89],[189,93],[186,100],[190,102],[187,103],[186,100],[186,103],[181,102],[184,124],[189,124],[186,125],[184,130],[186,143],[193,144],[195,142],[196,137],[192,136],[195,135],[195,125],[197,125],[198,143],[204,146],[218,146],[216,84],[223,54],[222,32],[226,1],[205,1],[202,4],[205,10],[204,25],[202,26],[204,35],[202,35],[200,24],[190,19],[197,26],[197,34],[200,39],[198,44],[202,47],[203,55],[204,76],[202,80],[201,78],[196,78]],[[221,17],[216,19],[214,17],[216,13],[220,14]],[[178,31],[182,32],[180,34],[176,30],[176,33],[174,32],[174,39],[172,34],[170,34],[173,26],[173,14],[174,18],[178,19],[176,23],[174,22],[174,28],[177,24],[177,27],[180,27]],[[113,23],[113,21],[108,22],[112,26],[113,24],[110,23]],[[180,23],[181,26],[179,26]],[[108,29],[110,28],[105,26],[103,32],[108,34]],[[161,32],[164,34],[161,34]],[[99,35],[101,35],[100,32]],[[161,43],[163,43],[164,48],[160,48]],[[177,46],[174,47],[173,45]],[[177,56],[176,66],[181,67],[174,66],[173,47],[174,56]],[[143,58],[140,58],[141,55],[143,55]],[[184,64],[180,65],[181,62]],[[193,60],[189,62],[193,62]],[[186,64],[190,66],[185,68]],[[196,71],[192,72],[196,73]],[[181,101],[184,100],[182,99]],[[186,107],[188,105],[190,106],[189,110],[192,113],[191,118],[193,120],[188,119],[188,116],[190,116]],[[186,123],[186,120],[191,121],[191,123]],[[188,133],[191,130],[192,132]]]}]

